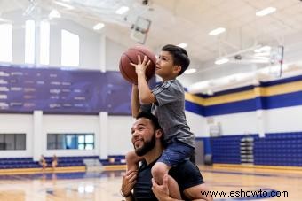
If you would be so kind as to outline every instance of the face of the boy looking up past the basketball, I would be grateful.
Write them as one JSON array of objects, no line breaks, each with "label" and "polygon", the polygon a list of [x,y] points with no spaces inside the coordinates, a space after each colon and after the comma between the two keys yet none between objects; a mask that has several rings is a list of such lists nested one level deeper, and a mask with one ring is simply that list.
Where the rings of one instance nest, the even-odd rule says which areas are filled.
[{"label": "face of the boy looking up past the basketball", "polygon": [[175,78],[179,71],[178,67],[174,66],[174,61],[169,51],[161,51],[156,60],[155,73],[164,79]]}]

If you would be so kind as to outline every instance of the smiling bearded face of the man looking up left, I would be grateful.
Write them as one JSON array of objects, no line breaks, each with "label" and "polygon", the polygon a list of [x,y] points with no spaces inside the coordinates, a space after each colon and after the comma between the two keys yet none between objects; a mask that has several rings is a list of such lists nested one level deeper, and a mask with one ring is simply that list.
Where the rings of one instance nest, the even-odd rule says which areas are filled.
[{"label": "smiling bearded face of the man looking up left", "polygon": [[155,130],[151,120],[139,118],[131,128],[133,147],[138,156],[145,155],[155,147]]}]

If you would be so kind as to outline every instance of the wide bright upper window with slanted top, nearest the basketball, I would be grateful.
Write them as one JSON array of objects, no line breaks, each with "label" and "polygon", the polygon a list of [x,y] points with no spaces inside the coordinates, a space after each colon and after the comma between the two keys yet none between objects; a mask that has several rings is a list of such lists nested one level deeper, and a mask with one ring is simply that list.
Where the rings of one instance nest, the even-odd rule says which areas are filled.
[{"label": "wide bright upper window with slanted top, nearest the basketball", "polygon": [[80,39],[67,30],[62,30],[61,37],[61,65],[79,66]]}]

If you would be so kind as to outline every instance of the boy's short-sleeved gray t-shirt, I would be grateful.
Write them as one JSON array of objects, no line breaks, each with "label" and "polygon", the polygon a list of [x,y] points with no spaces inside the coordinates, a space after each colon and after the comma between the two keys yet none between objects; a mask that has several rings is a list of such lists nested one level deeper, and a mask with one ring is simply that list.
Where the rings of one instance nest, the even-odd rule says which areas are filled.
[{"label": "boy's short-sleeved gray t-shirt", "polygon": [[155,104],[142,104],[141,111],[152,112],[163,128],[164,140],[180,142],[195,147],[195,136],[187,126],[185,115],[185,90],[178,80],[164,81],[152,90]]}]

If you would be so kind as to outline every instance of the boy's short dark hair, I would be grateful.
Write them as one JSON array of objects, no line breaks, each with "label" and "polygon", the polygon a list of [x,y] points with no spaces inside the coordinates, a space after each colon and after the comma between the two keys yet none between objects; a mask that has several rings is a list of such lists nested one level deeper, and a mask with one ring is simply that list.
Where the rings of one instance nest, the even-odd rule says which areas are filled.
[{"label": "boy's short dark hair", "polygon": [[187,70],[187,67],[190,64],[190,59],[188,58],[187,51],[185,49],[173,44],[167,44],[163,46],[162,50],[169,51],[173,58],[174,65],[181,66],[181,70],[179,71],[178,75],[184,73]]}]

